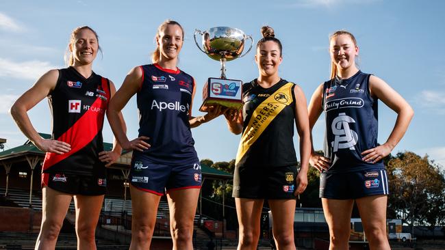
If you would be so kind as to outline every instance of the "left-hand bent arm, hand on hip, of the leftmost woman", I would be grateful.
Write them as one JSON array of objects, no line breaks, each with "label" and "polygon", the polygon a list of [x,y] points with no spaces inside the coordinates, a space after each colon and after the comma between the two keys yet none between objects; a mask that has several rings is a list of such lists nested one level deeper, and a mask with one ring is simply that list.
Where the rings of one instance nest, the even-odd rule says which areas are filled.
[{"label": "left-hand bent arm, hand on hip, of the leftmost woman", "polygon": [[64,154],[71,150],[71,145],[63,141],[56,141],[51,139],[43,139],[38,135],[31,121],[27,111],[32,109],[43,100],[55,88],[59,77],[58,70],[49,70],[43,74],[40,79],[28,89],[21,97],[19,97],[10,109],[10,113],[18,128],[25,134],[25,136],[36,145],[37,148],[43,152],[54,152],[57,154]]}]

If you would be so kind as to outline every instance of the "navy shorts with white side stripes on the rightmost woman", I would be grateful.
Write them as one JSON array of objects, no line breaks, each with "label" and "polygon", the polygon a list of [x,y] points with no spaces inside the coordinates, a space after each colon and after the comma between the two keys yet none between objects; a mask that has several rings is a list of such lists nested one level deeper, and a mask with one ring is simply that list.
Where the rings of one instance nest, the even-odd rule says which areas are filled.
[{"label": "navy shorts with white side stripes on the rightmost woman", "polygon": [[357,199],[388,195],[385,169],[366,169],[348,173],[320,173],[320,198]]}]

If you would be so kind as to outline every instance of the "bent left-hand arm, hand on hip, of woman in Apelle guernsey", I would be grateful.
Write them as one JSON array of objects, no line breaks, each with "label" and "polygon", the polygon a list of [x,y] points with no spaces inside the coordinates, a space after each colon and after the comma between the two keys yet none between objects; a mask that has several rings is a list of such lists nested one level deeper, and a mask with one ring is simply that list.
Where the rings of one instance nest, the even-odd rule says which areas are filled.
[{"label": "bent left-hand arm, hand on hip, of woman in Apelle guernsey", "polygon": [[127,105],[131,96],[136,94],[139,90],[140,84],[142,83],[142,69],[140,67],[133,68],[125,77],[125,80],[120,87],[120,89],[114,94],[113,98],[110,100],[107,109],[107,118],[110,122],[110,126],[113,130],[114,137],[116,137],[120,146],[125,150],[147,150],[150,145],[147,143],[146,139],[148,137],[138,137],[129,141],[125,127],[125,122],[123,122],[123,116],[120,111]]}]

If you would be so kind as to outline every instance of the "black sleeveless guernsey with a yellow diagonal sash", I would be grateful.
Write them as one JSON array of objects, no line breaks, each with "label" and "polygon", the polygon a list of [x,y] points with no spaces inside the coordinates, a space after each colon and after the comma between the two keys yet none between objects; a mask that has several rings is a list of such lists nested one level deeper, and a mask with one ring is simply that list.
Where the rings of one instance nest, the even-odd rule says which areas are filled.
[{"label": "black sleeveless guernsey with a yellow diagonal sash", "polygon": [[244,124],[236,167],[296,165],[294,86],[283,79],[267,89],[257,79],[244,83]]}]

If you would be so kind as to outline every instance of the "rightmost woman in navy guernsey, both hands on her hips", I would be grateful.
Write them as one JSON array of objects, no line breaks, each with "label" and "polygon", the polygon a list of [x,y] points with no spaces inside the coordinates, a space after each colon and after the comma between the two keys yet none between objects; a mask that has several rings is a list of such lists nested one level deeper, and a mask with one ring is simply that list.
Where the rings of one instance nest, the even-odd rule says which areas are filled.
[{"label": "rightmost woman in navy guernsey, both hands on her hips", "polygon": [[[309,103],[311,129],[323,112],[326,120],[324,156],[309,163],[320,173],[320,197],[329,225],[330,249],[348,249],[354,202],[370,249],[390,249],[386,236],[387,174],[383,158],[405,134],[413,109],[385,81],[361,72],[359,48],[348,31],[330,37],[331,79],[322,83]],[[397,113],[392,133],[377,143],[377,103]]]}]

